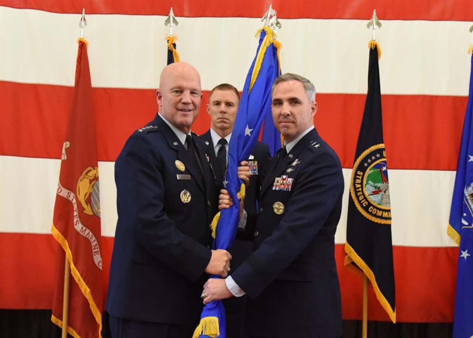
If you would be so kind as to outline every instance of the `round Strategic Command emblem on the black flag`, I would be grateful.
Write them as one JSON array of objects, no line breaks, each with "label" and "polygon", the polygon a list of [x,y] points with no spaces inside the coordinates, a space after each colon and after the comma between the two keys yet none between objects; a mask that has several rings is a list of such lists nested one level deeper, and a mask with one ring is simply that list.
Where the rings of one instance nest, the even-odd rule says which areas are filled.
[{"label": "round Strategic Command emblem on the black flag", "polygon": [[385,145],[369,147],[356,160],[351,173],[350,195],[359,212],[369,220],[391,224],[391,202]]}]

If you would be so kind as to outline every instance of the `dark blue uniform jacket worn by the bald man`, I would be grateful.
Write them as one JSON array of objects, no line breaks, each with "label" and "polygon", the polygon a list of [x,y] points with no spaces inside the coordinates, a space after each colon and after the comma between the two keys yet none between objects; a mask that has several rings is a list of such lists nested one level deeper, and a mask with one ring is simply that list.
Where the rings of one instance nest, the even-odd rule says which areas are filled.
[{"label": "dark blue uniform jacket worn by the bald man", "polygon": [[105,304],[116,317],[199,323],[218,194],[206,145],[193,139],[200,163],[157,115],[116,160],[118,222]]}]

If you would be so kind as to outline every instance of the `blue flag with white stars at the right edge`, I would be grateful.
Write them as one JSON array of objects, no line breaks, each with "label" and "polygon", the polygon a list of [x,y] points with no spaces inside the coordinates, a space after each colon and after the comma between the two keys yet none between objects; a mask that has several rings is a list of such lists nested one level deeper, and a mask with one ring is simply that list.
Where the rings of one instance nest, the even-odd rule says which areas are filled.
[{"label": "blue flag with white stars at the right edge", "polygon": [[447,233],[460,246],[453,337],[473,337],[473,55],[470,96],[463,124]]}]

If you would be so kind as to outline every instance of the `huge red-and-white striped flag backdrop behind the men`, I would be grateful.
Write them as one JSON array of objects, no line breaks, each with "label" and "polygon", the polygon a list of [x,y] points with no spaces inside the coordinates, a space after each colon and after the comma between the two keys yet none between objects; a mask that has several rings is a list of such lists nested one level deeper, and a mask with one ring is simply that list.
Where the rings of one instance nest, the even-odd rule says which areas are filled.
[{"label": "huge red-and-white striped flag backdrop behind the men", "polygon": [[[458,248],[447,235],[467,104],[471,0],[0,0],[0,308],[51,309],[51,234],[62,142],[85,8],[100,172],[103,289],[116,225],[114,160],[157,112],[171,6],[181,61],[201,74],[193,131],[210,127],[215,85],[240,91],[270,3],[281,68],[317,90],[315,126],[338,153],[346,189],[335,236],[344,319],[360,319],[362,281],[343,266],[349,183],[367,91],[367,29],[377,30],[389,158],[398,322],[453,321]],[[473,300],[472,300],[473,301]],[[370,290],[369,320],[388,321]]]}]

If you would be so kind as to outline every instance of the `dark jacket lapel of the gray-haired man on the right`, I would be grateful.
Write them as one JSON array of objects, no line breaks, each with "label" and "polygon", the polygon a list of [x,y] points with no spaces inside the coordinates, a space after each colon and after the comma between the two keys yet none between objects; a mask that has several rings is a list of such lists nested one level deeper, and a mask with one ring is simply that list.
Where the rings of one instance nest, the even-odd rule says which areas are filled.
[{"label": "dark jacket lapel of the gray-haired man on the right", "polygon": [[[296,158],[298,158],[299,153],[304,149],[310,141],[313,141],[318,138],[318,133],[315,128],[311,131],[309,131],[302,139],[299,140],[299,142],[291,149],[289,154],[287,154],[284,158],[281,158],[278,162],[280,152],[274,156],[271,162],[271,169],[269,170],[268,174],[266,175],[266,178],[263,182],[263,185],[261,187],[261,196],[263,196],[264,192],[268,190],[268,188],[271,188],[274,179],[278,176],[281,176],[284,174],[284,171],[287,169],[288,165]],[[289,156],[289,155],[292,155]],[[274,167],[276,165],[276,167]]]}]

